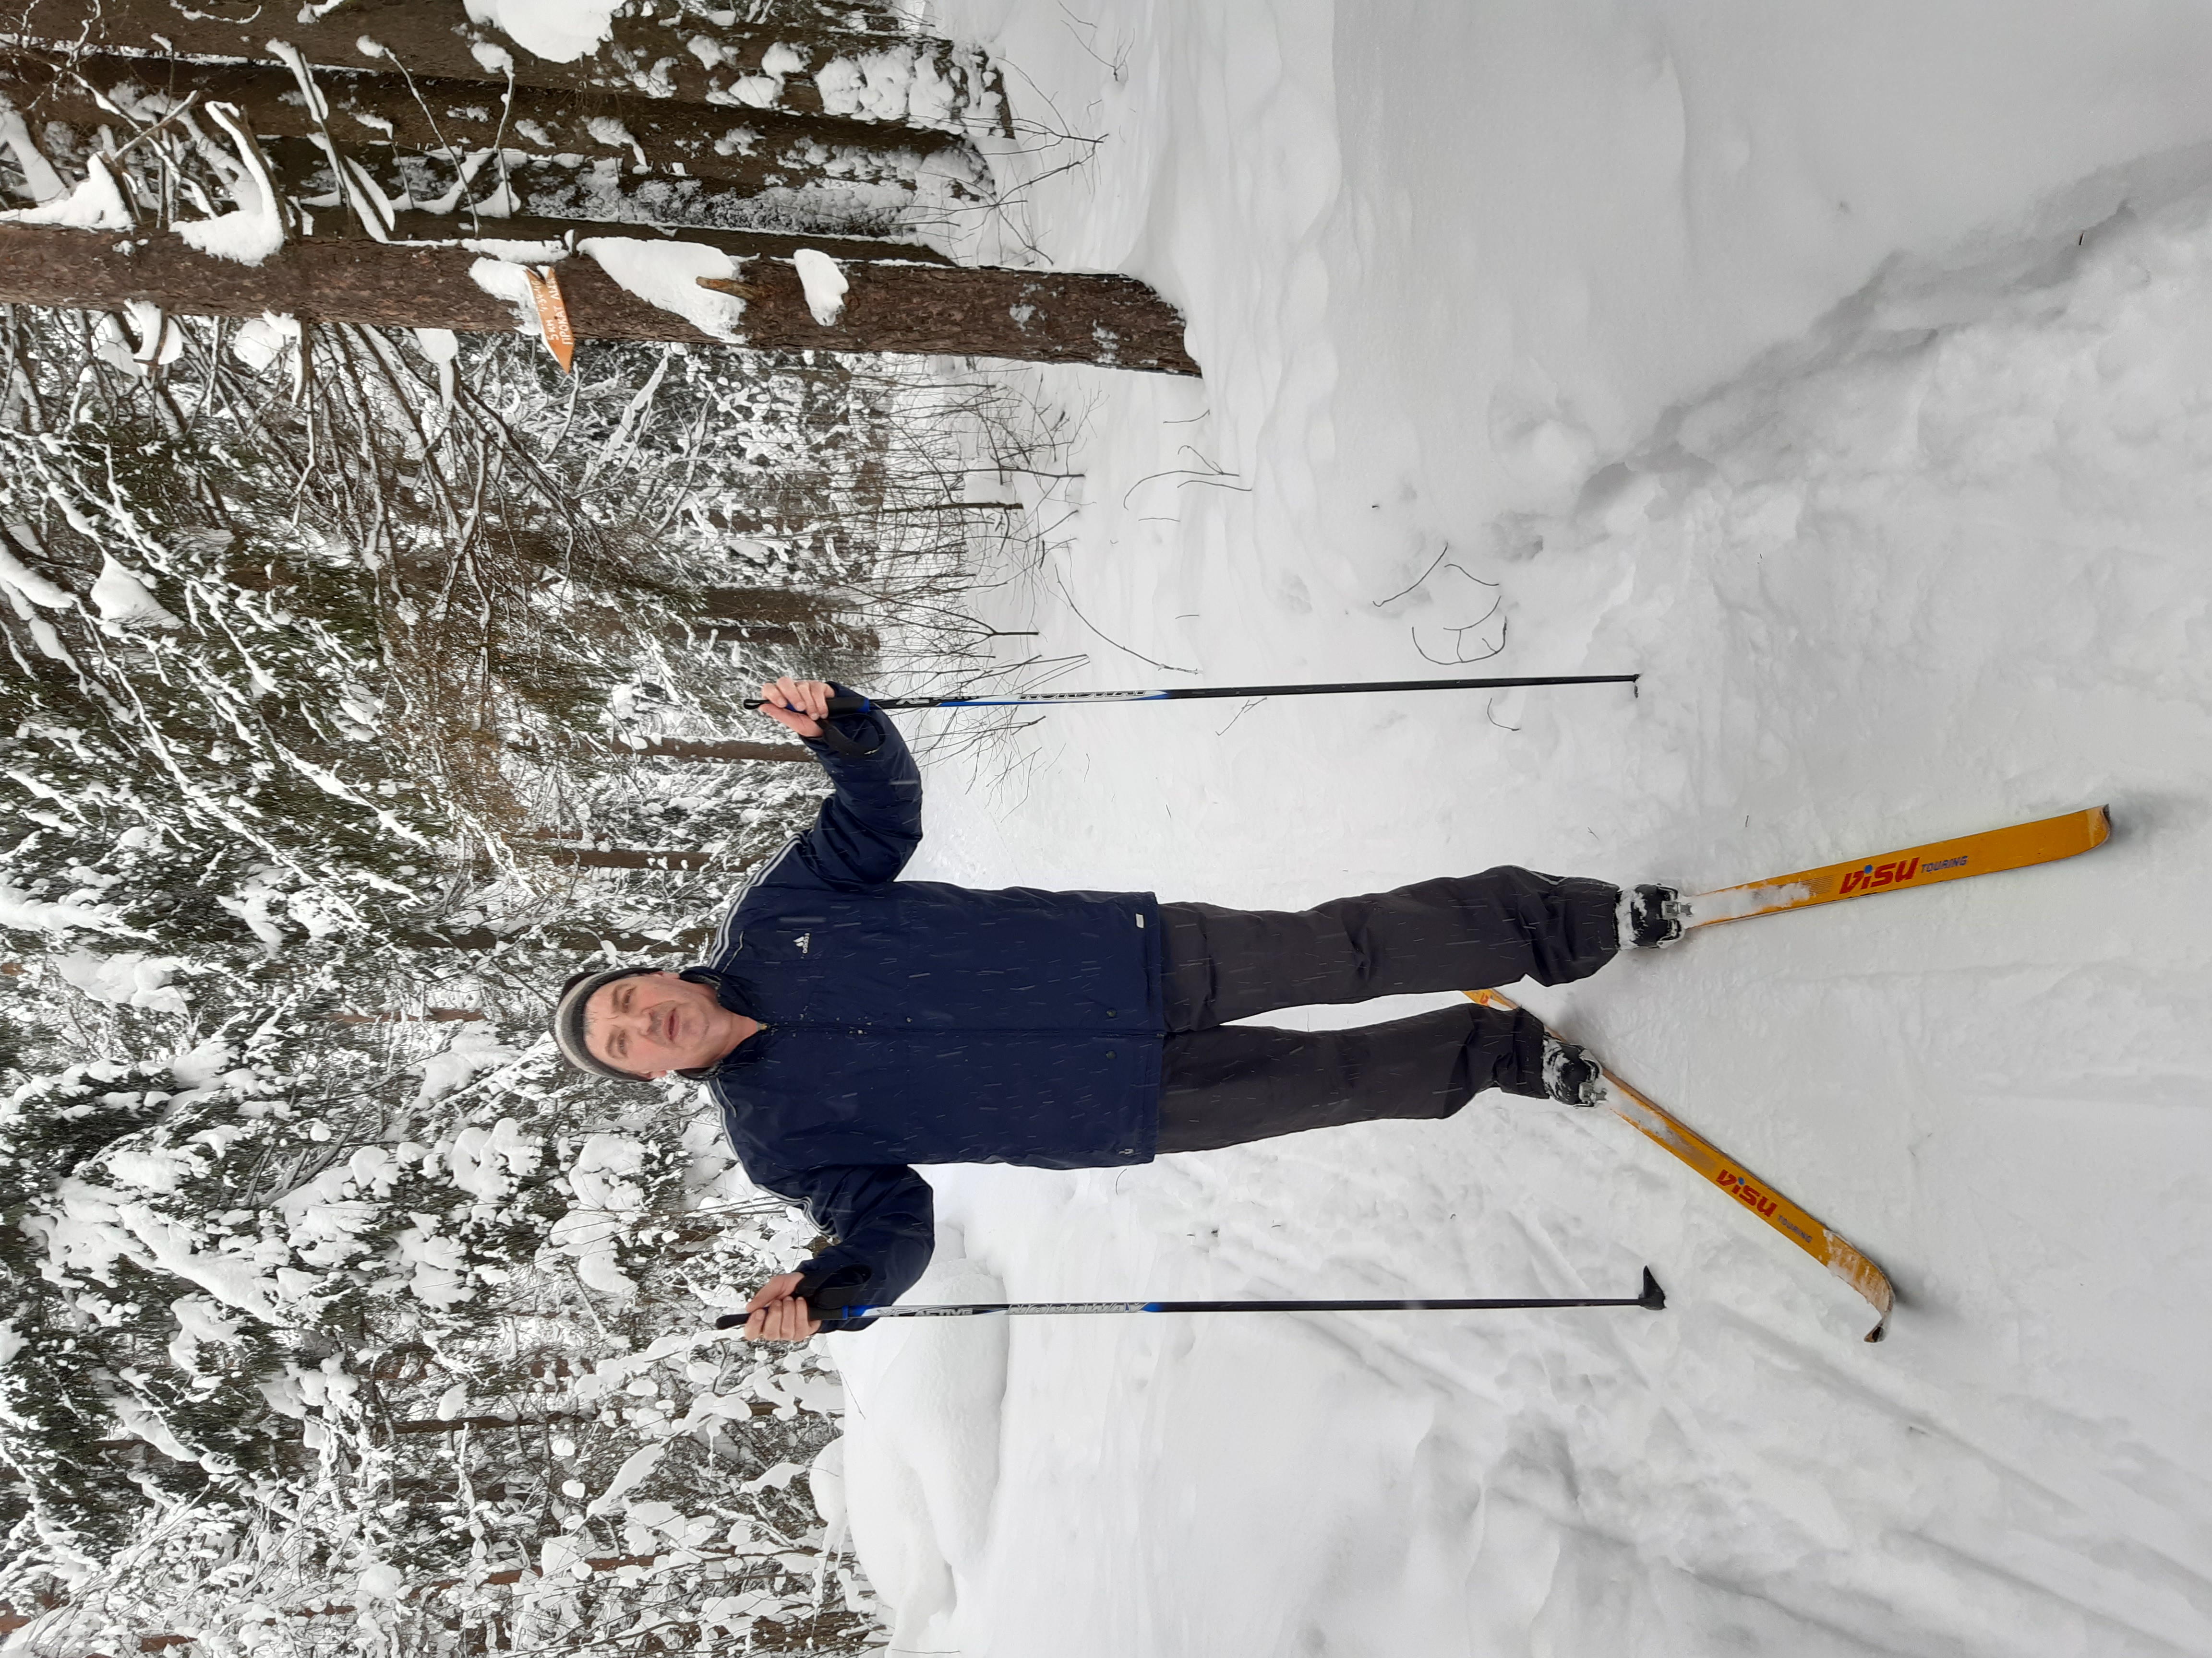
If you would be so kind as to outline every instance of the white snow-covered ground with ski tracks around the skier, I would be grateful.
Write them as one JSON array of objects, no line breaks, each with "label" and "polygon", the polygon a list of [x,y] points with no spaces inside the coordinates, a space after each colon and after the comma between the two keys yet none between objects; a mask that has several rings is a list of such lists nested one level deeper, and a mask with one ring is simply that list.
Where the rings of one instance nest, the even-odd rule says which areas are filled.
[{"label": "white snow-covered ground with ski tracks around the skier", "polygon": [[933,1172],[927,1300],[1650,1262],[1672,1307],[832,1337],[894,1649],[2212,1651],[2212,11],[938,11],[1104,137],[1009,230],[1155,281],[1206,365],[1037,376],[1082,480],[1002,626],[1084,685],[1502,639],[1644,694],[1055,714],[933,769],[916,873],[1290,906],[2104,800],[2117,836],[1528,993],[1885,1262],[1882,1346],[1626,1125],[1528,1101]]}]

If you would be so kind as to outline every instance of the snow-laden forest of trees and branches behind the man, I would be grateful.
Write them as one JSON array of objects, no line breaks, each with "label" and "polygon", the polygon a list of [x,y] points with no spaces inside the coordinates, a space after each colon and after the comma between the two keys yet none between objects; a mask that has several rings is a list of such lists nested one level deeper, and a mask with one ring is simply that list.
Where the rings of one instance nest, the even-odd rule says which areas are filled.
[{"label": "snow-laden forest of trees and branches behind the man", "polygon": [[[712,1329],[810,1234],[690,1085],[542,1026],[807,822],[763,676],[1024,672],[962,595],[1051,418],[703,290],[608,336],[575,276],[520,321],[254,283],[670,225],[953,272],[998,73],[876,4],[628,4],[591,53],[562,7],[250,11],[11,7],[0,69],[0,1629],[865,1649],[836,1379]],[[150,296],[84,263],[115,232]],[[148,239],[219,270],[170,303]]]}]

